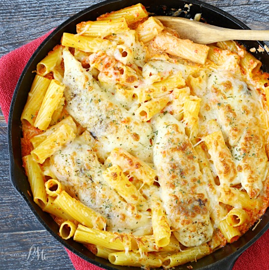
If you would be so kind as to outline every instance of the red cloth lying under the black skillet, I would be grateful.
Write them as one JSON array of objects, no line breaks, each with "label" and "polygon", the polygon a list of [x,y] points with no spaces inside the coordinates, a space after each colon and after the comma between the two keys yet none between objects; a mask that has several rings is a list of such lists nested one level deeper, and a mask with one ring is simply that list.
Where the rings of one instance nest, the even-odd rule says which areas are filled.
[{"label": "red cloth lying under the black skillet", "polygon": [[[34,40],[0,58],[0,106],[7,121],[16,83],[31,55],[48,36]],[[67,253],[76,270],[101,270],[71,251]],[[269,270],[269,230],[236,261],[233,270]]]}]

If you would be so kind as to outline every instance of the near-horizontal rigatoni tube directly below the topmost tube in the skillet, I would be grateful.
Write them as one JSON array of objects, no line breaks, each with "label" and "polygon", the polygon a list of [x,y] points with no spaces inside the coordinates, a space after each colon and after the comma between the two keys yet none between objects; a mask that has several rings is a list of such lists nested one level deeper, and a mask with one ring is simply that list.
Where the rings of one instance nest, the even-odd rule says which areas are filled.
[{"label": "near-horizontal rigatoni tube directly below the topmost tube in the skillet", "polygon": [[104,38],[128,30],[129,27],[125,18],[105,21],[82,21],[77,24],[77,33],[90,38]]}]

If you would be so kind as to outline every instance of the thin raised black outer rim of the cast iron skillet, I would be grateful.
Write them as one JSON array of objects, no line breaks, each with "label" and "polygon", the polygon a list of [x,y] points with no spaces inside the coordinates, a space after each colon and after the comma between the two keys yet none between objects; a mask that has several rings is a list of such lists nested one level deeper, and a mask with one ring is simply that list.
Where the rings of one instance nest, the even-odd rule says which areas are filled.
[{"label": "thin raised black outer rim of the cast iron skillet", "polygon": [[[52,33],[50,33],[48,35],[48,37],[44,40],[44,42],[42,42],[40,44],[40,46],[36,49],[36,51],[34,52],[34,54],[31,56],[31,58],[29,59],[29,61],[27,62],[26,66],[24,67],[23,71],[22,71],[22,75],[20,76],[20,79],[16,85],[14,94],[13,94],[13,98],[10,104],[10,111],[9,111],[9,118],[8,118],[8,133],[7,133],[7,137],[8,137],[8,152],[9,152],[9,159],[10,159],[10,180],[11,183],[13,185],[13,187],[18,191],[18,193],[22,196],[23,200],[26,202],[26,204],[28,205],[28,207],[31,209],[31,211],[33,212],[33,214],[35,215],[35,217],[38,219],[38,221],[43,225],[43,227],[45,227],[45,229],[58,241],[60,242],[62,245],[64,245],[67,249],[71,250],[73,253],[75,253],[76,255],[78,255],[79,257],[83,258],[84,260],[90,262],[91,264],[94,264],[96,266],[99,266],[101,268],[107,269],[107,270],[116,270],[116,269],[121,269],[121,270],[125,270],[126,267],[119,267],[119,266],[115,266],[115,265],[107,265],[107,264],[103,264],[100,262],[97,262],[95,259],[91,259],[90,257],[86,256],[85,254],[83,254],[81,251],[78,251],[77,249],[71,247],[67,241],[63,240],[61,237],[59,237],[49,226],[48,224],[45,222],[45,220],[38,214],[38,212],[36,211],[35,207],[33,206],[33,203],[30,202],[28,200],[28,198],[25,196],[25,194],[22,192],[22,190],[20,190],[20,188],[16,185],[15,182],[15,175],[14,175],[14,167],[15,167],[15,158],[14,158],[14,154],[13,154],[13,148],[12,148],[12,122],[13,122],[13,118],[15,118],[13,112],[14,112],[14,106],[15,106],[15,102],[16,102],[16,98],[18,95],[18,92],[20,91],[21,88],[21,84],[22,81],[25,77],[25,74],[27,74],[31,63],[35,60],[36,56],[38,56],[39,52],[46,46],[46,44],[59,32],[61,31],[65,26],[67,26],[69,23],[71,23],[72,21],[75,21],[76,19],[78,19],[79,17],[81,17],[82,15],[85,15],[91,11],[93,11],[96,8],[100,8],[102,6],[105,6],[107,4],[111,4],[111,3],[121,3],[124,2],[124,0],[106,0],[106,1],[102,1],[100,3],[94,4],[89,6],[88,8],[76,13],[75,15],[71,16],[69,19],[67,19],[66,21],[64,21],[63,23],[61,23],[56,29],[54,29],[52,31]],[[139,2],[139,0],[137,0],[137,2]],[[180,2],[183,3],[192,3],[192,4],[197,4],[199,6],[201,6],[201,8],[205,8],[205,9],[209,9],[211,11],[213,11],[214,13],[217,14],[221,14],[224,17],[226,17],[227,19],[235,22],[241,29],[250,29],[249,27],[247,27],[246,24],[244,24],[243,22],[239,21],[238,19],[236,19],[235,17],[233,17],[232,15],[224,12],[223,10],[212,6],[208,3],[202,2],[200,0],[189,0],[189,1],[184,1],[184,0],[180,0]],[[264,45],[263,42],[258,42],[261,45]],[[269,56],[269,55],[268,55]],[[22,91],[22,90],[21,90]],[[14,132],[14,131],[13,131]],[[269,217],[269,208],[267,209],[265,215],[267,215]],[[203,266],[202,268],[196,268],[194,267],[194,269],[199,269],[199,270],[209,270],[209,269],[224,269],[224,267],[230,268],[233,266],[235,260],[239,257],[239,255],[244,252],[249,246],[251,246],[258,238],[260,238],[260,236],[262,236],[263,233],[266,232],[266,230],[269,228],[269,222],[268,224],[266,224],[264,226],[264,228],[262,228],[256,235],[254,235],[254,237],[252,239],[250,239],[245,245],[243,245],[241,248],[237,249],[236,251],[232,252],[230,255],[224,256],[224,258],[217,260],[216,262],[210,264],[210,265],[206,265]],[[251,228],[250,228],[251,229]],[[250,230],[249,229],[249,230]],[[246,232],[247,233],[247,232]],[[73,241],[73,240],[71,240]],[[74,242],[74,241],[73,241]],[[228,244],[228,245],[232,245],[232,244]],[[225,246],[227,247],[227,246]],[[225,248],[224,247],[224,248]],[[221,249],[218,249],[221,250]],[[217,250],[217,251],[218,251]],[[217,252],[215,251],[215,252]],[[213,252],[213,253],[215,253]],[[206,258],[207,256],[205,256],[204,258]],[[107,260],[103,259],[105,262],[107,262]],[[201,261],[202,259],[200,259],[199,261]],[[101,260],[102,261],[102,260]],[[198,262],[199,262],[198,261]],[[183,265],[184,266],[184,265]],[[182,266],[178,266],[176,267],[176,269],[181,269]],[[128,267],[128,269],[134,269],[137,270],[137,268],[130,268]]]}]

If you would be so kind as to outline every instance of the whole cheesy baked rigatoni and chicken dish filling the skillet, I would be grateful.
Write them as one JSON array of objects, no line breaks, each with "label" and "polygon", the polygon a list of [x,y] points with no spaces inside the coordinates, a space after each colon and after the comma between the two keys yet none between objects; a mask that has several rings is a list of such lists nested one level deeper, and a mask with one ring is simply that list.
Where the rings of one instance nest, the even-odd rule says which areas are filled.
[{"label": "whole cheesy baked rigatoni and chicken dish filling the skillet", "polygon": [[237,42],[180,39],[145,7],[77,24],[22,112],[33,200],[115,265],[172,268],[269,205],[269,74]]}]

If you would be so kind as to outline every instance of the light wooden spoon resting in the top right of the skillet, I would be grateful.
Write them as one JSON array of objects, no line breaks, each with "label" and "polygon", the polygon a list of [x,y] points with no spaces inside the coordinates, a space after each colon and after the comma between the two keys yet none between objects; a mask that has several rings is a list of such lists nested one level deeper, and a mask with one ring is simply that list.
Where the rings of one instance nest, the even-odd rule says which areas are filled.
[{"label": "light wooden spoon resting in the top right of the skillet", "polygon": [[175,29],[181,39],[200,44],[229,40],[269,41],[269,30],[235,30],[178,17],[155,16],[166,27]]}]

